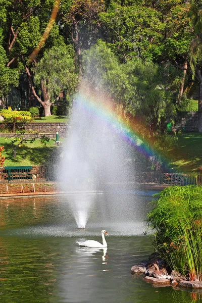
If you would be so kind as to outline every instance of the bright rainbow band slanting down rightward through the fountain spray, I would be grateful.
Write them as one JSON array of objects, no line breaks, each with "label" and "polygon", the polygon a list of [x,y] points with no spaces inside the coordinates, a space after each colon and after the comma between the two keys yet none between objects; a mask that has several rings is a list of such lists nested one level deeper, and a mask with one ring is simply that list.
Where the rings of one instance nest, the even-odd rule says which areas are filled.
[{"label": "bright rainbow band slanting down rightward through the fountain spray", "polygon": [[[169,159],[166,159],[163,154],[160,154],[155,149],[145,126],[137,119],[127,120],[123,112],[121,114],[118,113],[112,99],[92,93],[92,90],[90,92],[89,89],[82,88],[77,94],[76,100],[81,103],[83,110],[91,112],[92,115],[96,115],[107,122],[115,132],[118,132],[142,156],[147,159],[150,159],[150,157],[160,158],[164,165],[170,163]],[[141,130],[141,133],[139,130]]]}]

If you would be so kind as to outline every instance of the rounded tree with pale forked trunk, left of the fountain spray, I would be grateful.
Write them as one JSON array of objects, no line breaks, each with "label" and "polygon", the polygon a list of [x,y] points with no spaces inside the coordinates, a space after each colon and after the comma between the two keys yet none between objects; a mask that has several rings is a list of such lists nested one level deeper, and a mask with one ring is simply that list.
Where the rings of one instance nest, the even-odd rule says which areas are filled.
[{"label": "rounded tree with pale forked trunk, left of the fountain spray", "polygon": [[34,71],[34,83],[40,85],[43,99],[35,91],[29,68],[25,69],[31,83],[34,96],[44,108],[44,115],[51,116],[51,106],[59,98],[63,90],[71,94],[76,86],[77,75],[74,66],[74,51],[65,43],[53,46],[44,52],[43,58],[36,64]]}]

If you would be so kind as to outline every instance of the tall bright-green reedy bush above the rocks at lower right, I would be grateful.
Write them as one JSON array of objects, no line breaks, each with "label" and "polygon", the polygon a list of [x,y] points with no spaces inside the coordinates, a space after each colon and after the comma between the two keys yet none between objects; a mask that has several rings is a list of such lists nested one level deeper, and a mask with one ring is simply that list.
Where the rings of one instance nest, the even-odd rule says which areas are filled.
[{"label": "tall bright-green reedy bush above the rocks at lower right", "polygon": [[172,186],[155,195],[148,234],[171,270],[202,278],[202,186]]}]

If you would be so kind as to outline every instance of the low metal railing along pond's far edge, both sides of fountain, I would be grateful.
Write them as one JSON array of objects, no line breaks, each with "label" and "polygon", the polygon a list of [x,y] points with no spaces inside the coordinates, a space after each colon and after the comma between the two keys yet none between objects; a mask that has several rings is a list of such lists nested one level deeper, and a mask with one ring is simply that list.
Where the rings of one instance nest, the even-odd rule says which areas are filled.
[{"label": "low metal railing along pond's far edge, both sides of fountain", "polygon": [[[5,168],[0,169],[1,183],[35,183],[35,182],[56,182],[58,169],[56,167],[38,167],[13,169],[8,172]],[[113,180],[112,180],[113,182]],[[138,173],[130,180],[130,184],[150,185],[202,185],[202,174],[192,173]]]}]

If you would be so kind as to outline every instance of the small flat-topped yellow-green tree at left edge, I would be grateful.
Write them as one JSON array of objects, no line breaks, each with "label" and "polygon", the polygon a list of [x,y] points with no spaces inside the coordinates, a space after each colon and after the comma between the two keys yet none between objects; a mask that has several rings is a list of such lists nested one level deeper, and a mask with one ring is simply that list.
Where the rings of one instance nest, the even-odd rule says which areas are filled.
[{"label": "small flat-topped yellow-green tree at left edge", "polygon": [[0,116],[13,123],[13,133],[16,132],[16,122],[29,122],[32,119],[31,113],[27,111],[0,110]]}]

